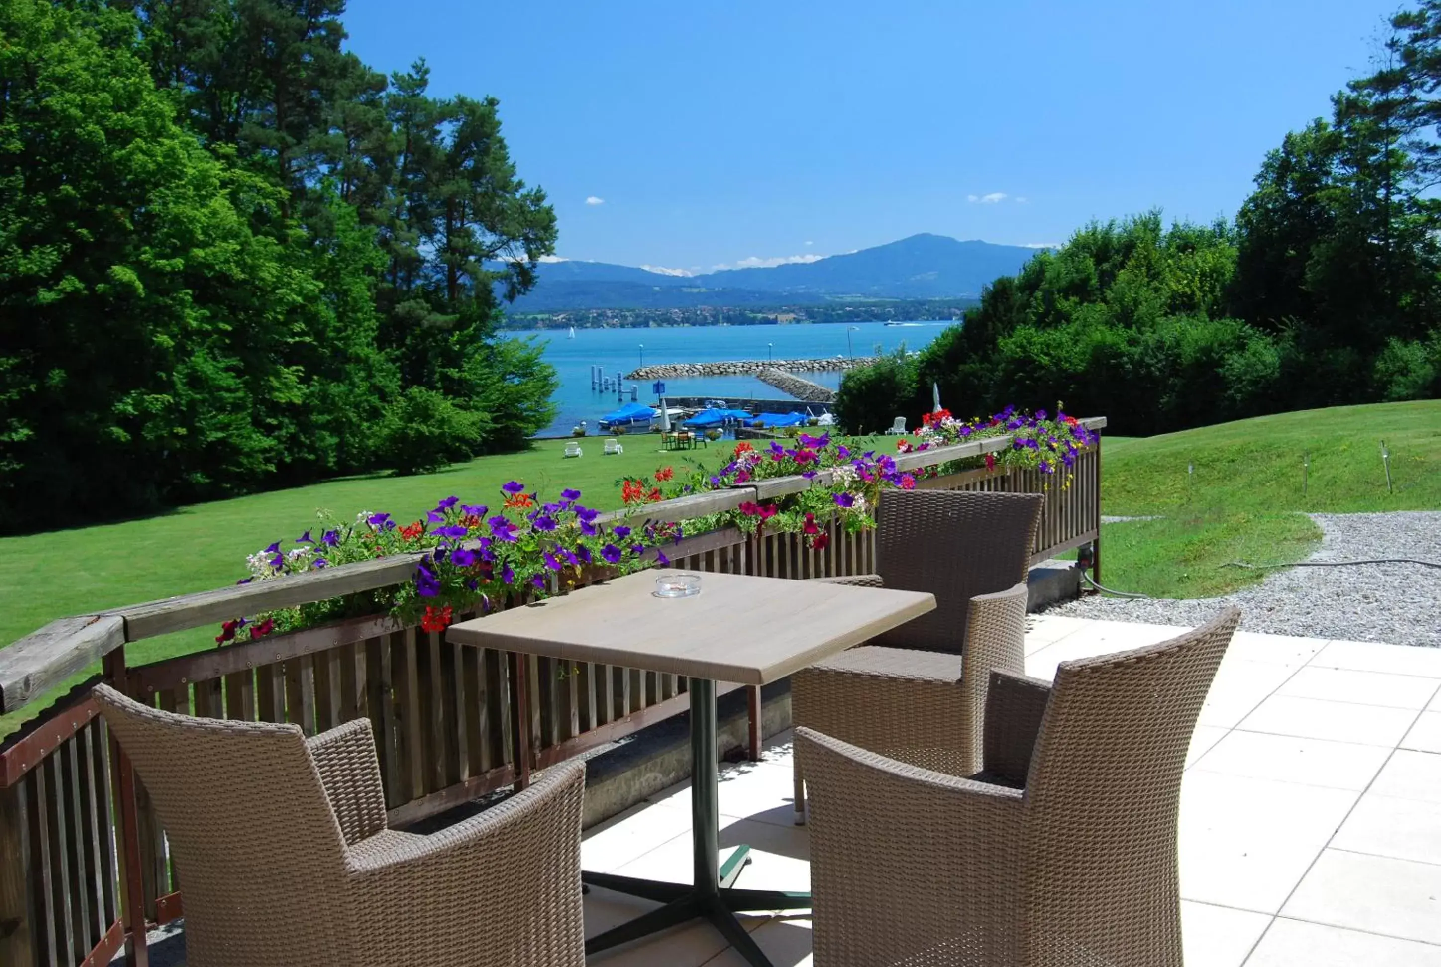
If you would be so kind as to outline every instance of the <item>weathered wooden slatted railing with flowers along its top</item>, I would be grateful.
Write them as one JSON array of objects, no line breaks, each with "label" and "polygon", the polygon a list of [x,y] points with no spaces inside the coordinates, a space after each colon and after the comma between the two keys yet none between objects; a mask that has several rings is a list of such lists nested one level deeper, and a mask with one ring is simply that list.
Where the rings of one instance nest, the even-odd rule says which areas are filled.
[{"label": "weathered wooden slatted railing with flowers along its top", "polygon": [[[1104,419],[1088,425],[1099,429]],[[898,464],[935,465],[1006,445],[1009,438],[991,438],[906,454]],[[1066,489],[1042,474],[1010,470],[937,477],[924,486],[1045,493],[1033,555],[1040,561],[1098,543],[1099,465],[1099,447],[1085,451]],[[684,520],[806,486],[810,481],[798,477],[767,480],[650,504],[646,514]],[[731,529],[686,538],[670,556],[686,569],[780,578],[875,571],[873,533],[847,535],[831,523],[829,536],[823,551],[813,551],[801,535],[746,538]],[[677,676],[457,646],[389,617],[144,666],[125,663],[128,641],[399,584],[414,568],[415,556],[385,558],[63,618],[0,650],[6,712],[102,661],[99,676],[0,747],[0,964],[98,966],[127,941],[131,964],[146,964],[146,927],[182,915],[164,830],[144,784],[98,718],[89,698],[97,680],[161,709],[293,722],[307,735],[367,718],[395,826],[523,785],[532,770],[684,710],[686,680]],[[757,755],[759,690],[751,689],[749,699],[749,745]]]}]

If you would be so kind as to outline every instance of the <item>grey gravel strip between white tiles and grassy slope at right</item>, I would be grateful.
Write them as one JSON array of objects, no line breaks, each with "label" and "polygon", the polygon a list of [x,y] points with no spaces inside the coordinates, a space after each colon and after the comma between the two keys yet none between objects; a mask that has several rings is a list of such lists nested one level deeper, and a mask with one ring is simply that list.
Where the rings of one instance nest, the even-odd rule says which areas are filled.
[{"label": "grey gravel strip between white tiles and grassy slope at right", "polygon": [[[1441,512],[1310,516],[1324,532],[1311,561],[1441,561]],[[1241,607],[1241,627],[1248,631],[1441,647],[1441,568],[1415,563],[1287,568],[1225,598],[1127,601],[1089,595],[1049,608],[1048,614],[1200,624],[1223,604]]]}]

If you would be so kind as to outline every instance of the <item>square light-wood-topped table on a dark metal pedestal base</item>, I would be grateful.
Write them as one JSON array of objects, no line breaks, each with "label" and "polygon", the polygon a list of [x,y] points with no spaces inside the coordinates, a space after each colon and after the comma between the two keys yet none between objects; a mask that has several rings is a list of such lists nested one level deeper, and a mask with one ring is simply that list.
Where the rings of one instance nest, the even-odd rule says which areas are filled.
[{"label": "square light-wood-topped table on a dark metal pedestal base", "polygon": [[585,953],[705,917],[751,964],[771,967],[735,918],[736,911],[806,909],[811,899],[808,892],[733,888],[749,862],[748,846],[738,847],[725,868],[719,865],[716,682],[775,682],[934,610],[935,598],[914,591],[710,572],[702,575],[699,595],[659,598],[657,574],[643,571],[464,621],[450,628],[447,640],[689,679],[693,885],[582,873],[589,885],[663,904],[592,937]]}]

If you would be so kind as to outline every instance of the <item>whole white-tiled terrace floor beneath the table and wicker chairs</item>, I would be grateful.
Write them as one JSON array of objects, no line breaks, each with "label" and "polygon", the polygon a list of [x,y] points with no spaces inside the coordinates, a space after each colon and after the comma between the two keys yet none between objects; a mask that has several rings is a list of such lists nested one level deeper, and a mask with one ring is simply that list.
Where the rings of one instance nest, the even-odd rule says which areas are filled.
[{"label": "whole white-tiled terrace floor beneath the table and wicker chairs", "polygon": [[[1161,641],[1180,628],[1032,618],[1026,670]],[[690,879],[683,783],[589,830],[585,869]],[[791,823],[790,734],[728,767],[722,847],[749,843],[738,886],[808,889]],[[1182,787],[1187,967],[1441,967],[1441,650],[1239,633],[1200,713]],[[653,905],[602,889],[597,934]],[[810,964],[810,919],[754,917],[778,967]],[[693,922],[595,967],[744,967]]]}]

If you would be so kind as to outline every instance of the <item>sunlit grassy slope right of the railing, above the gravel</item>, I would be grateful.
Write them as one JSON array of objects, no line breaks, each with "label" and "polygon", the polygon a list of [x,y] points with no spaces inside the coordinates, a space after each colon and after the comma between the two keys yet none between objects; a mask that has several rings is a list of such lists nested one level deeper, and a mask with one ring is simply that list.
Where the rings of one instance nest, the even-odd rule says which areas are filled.
[{"label": "sunlit grassy slope right of the railing, above the gravel", "polygon": [[[1382,440],[1391,450],[1391,493]],[[1311,465],[1303,494],[1306,453]],[[1441,401],[1108,438],[1104,454],[1105,513],[1164,519],[1105,525],[1102,579],[1159,597],[1209,597],[1261,579],[1261,572],[1228,568],[1231,561],[1306,556],[1320,529],[1301,512],[1441,509]],[[1189,480],[1187,464],[1195,465]]]}]

